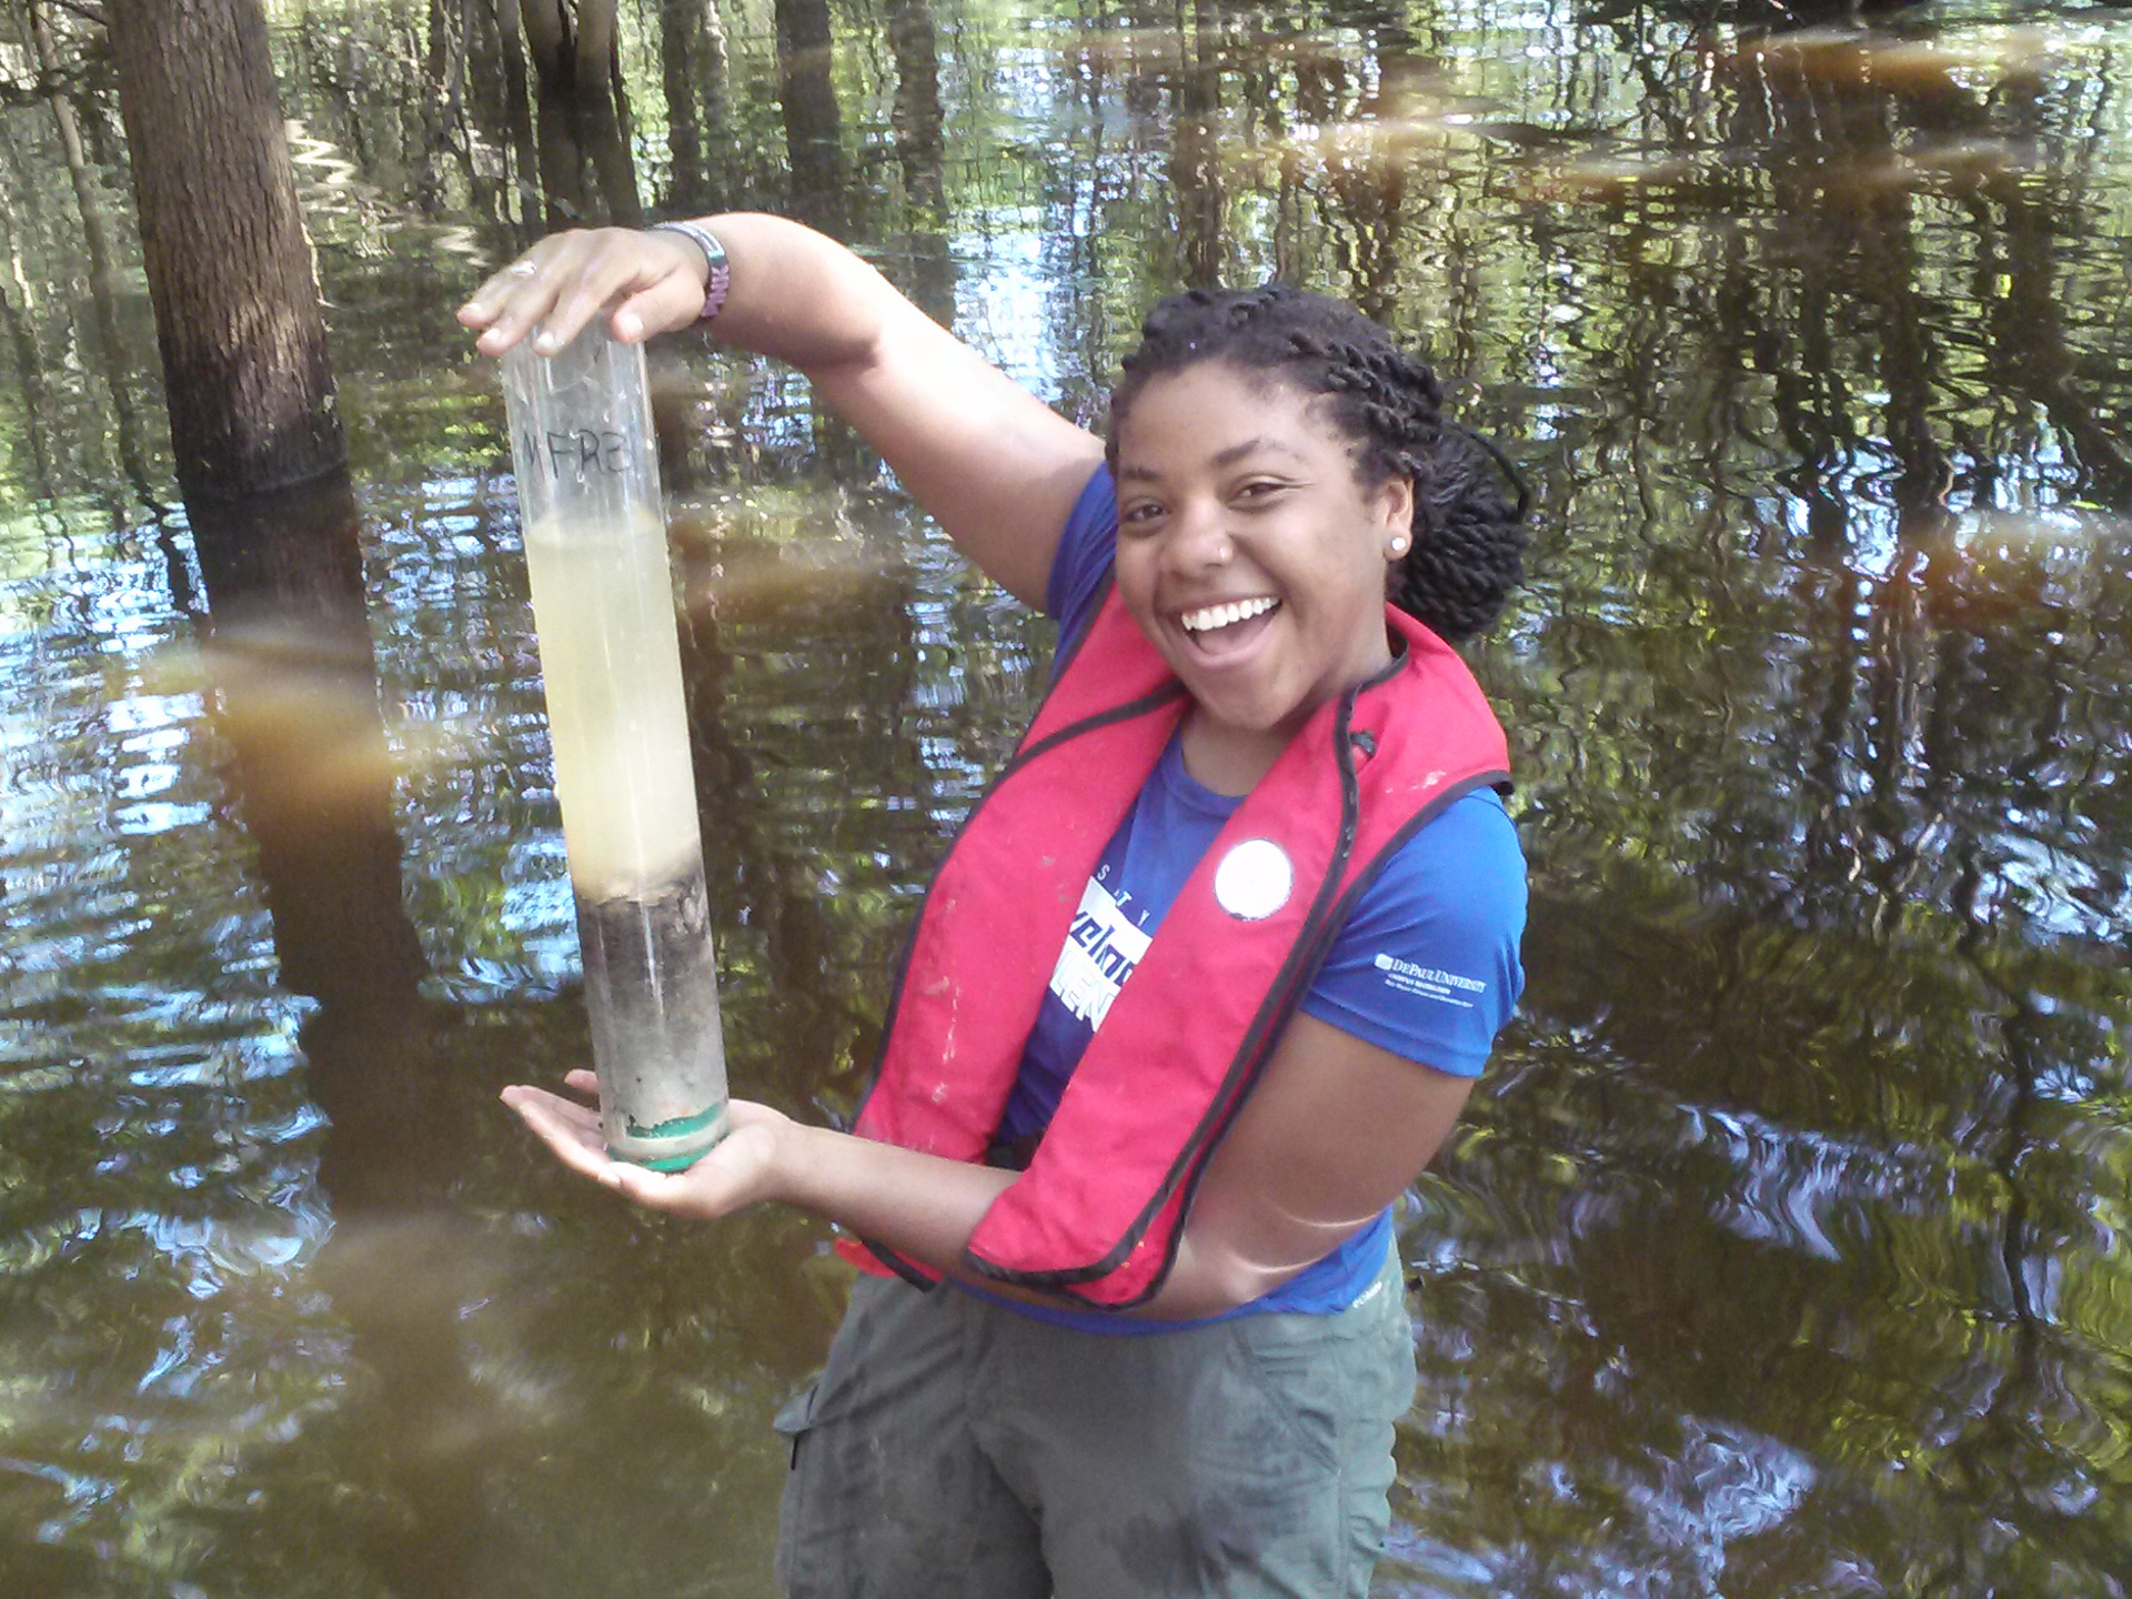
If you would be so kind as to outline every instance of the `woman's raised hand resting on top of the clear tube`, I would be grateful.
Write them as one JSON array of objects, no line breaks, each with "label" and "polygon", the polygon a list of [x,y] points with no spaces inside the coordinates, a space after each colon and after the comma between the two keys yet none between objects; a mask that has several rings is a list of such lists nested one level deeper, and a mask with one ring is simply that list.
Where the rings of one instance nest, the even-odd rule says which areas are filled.
[{"label": "woman's raised hand resting on top of the clear tube", "polygon": [[704,311],[704,252],[674,232],[582,228],[554,232],[490,277],[458,307],[473,348],[501,356],[539,326],[533,348],[548,356],[610,309],[620,343],[687,328]]}]

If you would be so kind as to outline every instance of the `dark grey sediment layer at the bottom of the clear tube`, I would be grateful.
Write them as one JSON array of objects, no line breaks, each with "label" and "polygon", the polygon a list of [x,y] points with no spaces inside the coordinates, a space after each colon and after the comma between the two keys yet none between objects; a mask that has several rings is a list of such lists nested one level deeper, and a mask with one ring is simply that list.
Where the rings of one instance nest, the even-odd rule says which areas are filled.
[{"label": "dark grey sediment layer at the bottom of the clear tube", "polygon": [[642,895],[578,895],[608,1147],[689,1164],[725,1132],[725,1038],[701,866]]}]

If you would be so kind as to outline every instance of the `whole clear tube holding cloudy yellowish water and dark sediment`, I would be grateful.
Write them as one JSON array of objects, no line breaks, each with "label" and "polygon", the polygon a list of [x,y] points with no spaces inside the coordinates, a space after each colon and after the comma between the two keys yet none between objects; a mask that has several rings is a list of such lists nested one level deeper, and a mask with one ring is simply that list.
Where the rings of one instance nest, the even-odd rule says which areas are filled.
[{"label": "whole clear tube holding cloudy yellowish water and dark sediment", "polygon": [[676,1170],[725,1136],[725,1040],[644,352],[529,339],[503,392],[601,1128]]}]

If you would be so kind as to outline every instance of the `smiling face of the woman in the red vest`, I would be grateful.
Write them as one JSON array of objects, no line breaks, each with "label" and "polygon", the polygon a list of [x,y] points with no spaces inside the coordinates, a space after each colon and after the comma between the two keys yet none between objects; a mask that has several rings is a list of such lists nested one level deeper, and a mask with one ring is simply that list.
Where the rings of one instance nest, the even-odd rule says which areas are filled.
[{"label": "smiling face of the woman in the red vest", "polygon": [[1262,772],[1390,661],[1384,567],[1411,516],[1414,486],[1360,484],[1315,397],[1277,377],[1205,360],[1134,397],[1117,426],[1117,591],[1224,770]]}]

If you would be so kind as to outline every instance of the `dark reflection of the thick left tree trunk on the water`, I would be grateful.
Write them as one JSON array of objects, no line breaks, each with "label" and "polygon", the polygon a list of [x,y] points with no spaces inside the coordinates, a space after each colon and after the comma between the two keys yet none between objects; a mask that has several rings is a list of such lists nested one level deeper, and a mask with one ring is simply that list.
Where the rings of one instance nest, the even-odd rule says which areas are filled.
[{"label": "dark reflection of the thick left tree trunk on the water", "polygon": [[401,904],[354,488],[335,475],[192,503],[190,522],[232,810],[256,849],[279,985],[318,1000],[303,1049],[328,1117],[318,1190],[333,1232],[316,1273],[375,1379],[350,1452],[373,1456],[407,1512],[356,1544],[394,1593],[458,1595],[488,1541],[480,1460],[463,1448],[482,1407],[458,1330],[467,1241],[446,1200],[465,1089],[441,1070],[416,991],[429,968]]}]

